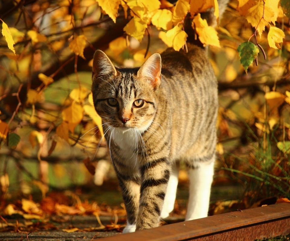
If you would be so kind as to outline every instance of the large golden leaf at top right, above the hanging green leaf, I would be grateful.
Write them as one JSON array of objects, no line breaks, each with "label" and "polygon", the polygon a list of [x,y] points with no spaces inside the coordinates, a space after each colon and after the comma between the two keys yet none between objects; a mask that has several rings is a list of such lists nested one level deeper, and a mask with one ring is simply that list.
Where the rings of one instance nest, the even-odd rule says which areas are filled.
[{"label": "large golden leaf at top right, above the hanging green leaf", "polygon": [[[264,19],[260,21],[264,13]],[[259,1],[256,5],[248,9],[246,14],[246,19],[248,22],[257,29],[260,37],[265,30],[265,27],[271,22],[272,17],[274,17],[274,11],[265,5],[263,5],[263,1]]]}]

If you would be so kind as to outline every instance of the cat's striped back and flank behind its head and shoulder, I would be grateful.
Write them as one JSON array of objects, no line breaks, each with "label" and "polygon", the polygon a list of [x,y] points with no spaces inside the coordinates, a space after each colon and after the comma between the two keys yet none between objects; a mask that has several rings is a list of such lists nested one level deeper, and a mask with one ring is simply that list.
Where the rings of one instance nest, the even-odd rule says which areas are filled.
[{"label": "cat's striped back and flank behind its head and shoulder", "polygon": [[[171,103],[172,155],[215,142],[217,80],[207,51],[188,44],[188,52],[167,49],[161,54],[163,95]],[[180,143],[184,143],[180,146]]]}]

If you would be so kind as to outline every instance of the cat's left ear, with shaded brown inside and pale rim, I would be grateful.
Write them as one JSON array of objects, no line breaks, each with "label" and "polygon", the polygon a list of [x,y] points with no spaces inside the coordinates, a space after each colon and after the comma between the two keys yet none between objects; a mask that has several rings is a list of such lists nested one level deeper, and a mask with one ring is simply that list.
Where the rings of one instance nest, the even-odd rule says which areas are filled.
[{"label": "cat's left ear, with shaded brown inside and pale rim", "polygon": [[108,56],[101,50],[97,50],[93,59],[93,81],[101,80],[105,75],[115,76],[117,70],[108,58]]}]

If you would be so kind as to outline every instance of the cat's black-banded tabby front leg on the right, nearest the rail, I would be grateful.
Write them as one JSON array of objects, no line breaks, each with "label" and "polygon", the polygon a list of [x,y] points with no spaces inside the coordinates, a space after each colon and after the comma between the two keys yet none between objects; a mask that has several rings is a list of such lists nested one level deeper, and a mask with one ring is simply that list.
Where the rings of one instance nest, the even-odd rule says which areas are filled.
[{"label": "cat's black-banded tabby front leg on the right, nearest the rail", "polygon": [[136,230],[159,226],[170,168],[167,158],[152,160],[141,166],[142,184]]}]

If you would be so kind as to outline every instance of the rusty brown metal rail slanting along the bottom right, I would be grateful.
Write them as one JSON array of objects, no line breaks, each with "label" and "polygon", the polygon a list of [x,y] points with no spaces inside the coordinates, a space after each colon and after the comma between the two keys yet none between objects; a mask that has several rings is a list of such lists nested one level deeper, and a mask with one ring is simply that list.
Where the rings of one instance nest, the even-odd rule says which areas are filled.
[{"label": "rusty brown metal rail slanting along the bottom right", "polygon": [[253,241],[290,233],[290,203],[219,214],[108,237],[104,241]]}]

